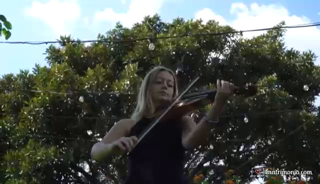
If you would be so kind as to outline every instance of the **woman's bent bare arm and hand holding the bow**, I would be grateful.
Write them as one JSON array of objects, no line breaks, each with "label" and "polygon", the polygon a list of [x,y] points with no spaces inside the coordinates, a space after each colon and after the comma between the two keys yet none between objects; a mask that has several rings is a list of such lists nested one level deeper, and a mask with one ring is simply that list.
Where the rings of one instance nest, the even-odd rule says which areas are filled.
[{"label": "woman's bent bare arm and hand holding the bow", "polygon": [[92,146],[91,158],[99,161],[107,155],[129,151],[137,140],[134,136],[126,137],[132,125],[132,119],[121,119],[116,122],[103,139]]}]

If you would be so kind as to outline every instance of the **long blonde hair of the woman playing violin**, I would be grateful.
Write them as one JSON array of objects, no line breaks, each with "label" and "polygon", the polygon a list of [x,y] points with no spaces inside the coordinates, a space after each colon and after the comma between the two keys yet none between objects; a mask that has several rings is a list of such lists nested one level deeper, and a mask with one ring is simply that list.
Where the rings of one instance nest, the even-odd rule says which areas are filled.
[{"label": "long blonde hair of the woman playing violin", "polygon": [[151,95],[149,93],[149,86],[150,83],[153,81],[154,77],[157,75],[158,72],[160,71],[167,71],[173,76],[173,98],[178,96],[178,87],[177,87],[177,81],[176,81],[176,76],[174,72],[166,68],[164,66],[155,66],[153,67],[144,77],[138,95],[137,95],[137,101],[136,101],[136,107],[131,115],[131,119],[138,121],[141,119],[143,116],[151,115],[155,107],[153,105],[153,101],[151,99]]}]

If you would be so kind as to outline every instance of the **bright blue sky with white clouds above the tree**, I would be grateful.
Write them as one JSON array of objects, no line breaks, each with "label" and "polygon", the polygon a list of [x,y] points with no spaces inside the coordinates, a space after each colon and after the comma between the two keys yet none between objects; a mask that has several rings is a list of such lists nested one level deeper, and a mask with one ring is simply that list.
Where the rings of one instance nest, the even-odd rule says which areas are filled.
[{"label": "bright blue sky with white clouds above the tree", "polygon": [[[95,39],[98,33],[111,29],[116,21],[130,26],[154,13],[159,13],[165,21],[177,16],[216,19],[240,30],[270,27],[281,20],[295,25],[320,19],[320,1],[316,0],[18,0],[18,3],[7,0],[1,7],[0,14],[12,23],[12,36],[8,41],[55,40],[60,34]],[[5,40],[0,37],[0,41]],[[319,27],[289,29],[285,41],[287,46],[311,49],[320,55]],[[47,46],[0,44],[0,74],[31,70],[35,63],[46,65],[42,53]],[[319,63],[320,59],[316,61]]]}]

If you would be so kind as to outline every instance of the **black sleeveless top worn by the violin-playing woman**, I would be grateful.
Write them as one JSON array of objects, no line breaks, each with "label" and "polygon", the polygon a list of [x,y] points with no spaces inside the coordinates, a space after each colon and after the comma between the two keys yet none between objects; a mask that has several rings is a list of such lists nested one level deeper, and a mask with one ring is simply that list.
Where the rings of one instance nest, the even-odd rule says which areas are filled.
[{"label": "black sleeveless top worn by the violin-playing woman", "polygon": [[[142,118],[129,136],[139,137],[153,119]],[[186,184],[184,147],[178,120],[157,123],[128,155],[126,184]]]}]

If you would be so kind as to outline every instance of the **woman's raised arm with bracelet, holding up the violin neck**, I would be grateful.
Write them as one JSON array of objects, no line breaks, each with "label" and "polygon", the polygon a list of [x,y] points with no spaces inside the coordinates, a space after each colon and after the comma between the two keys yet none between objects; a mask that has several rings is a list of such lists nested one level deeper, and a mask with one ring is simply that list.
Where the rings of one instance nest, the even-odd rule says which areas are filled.
[{"label": "woman's raised arm with bracelet, holding up the violin neck", "polygon": [[206,118],[202,118],[195,124],[190,116],[183,116],[182,144],[186,149],[193,149],[200,144],[207,143],[211,130],[211,121],[216,121],[222,113],[228,97],[232,94],[234,85],[227,81],[217,80],[217,93],[211,108],[206,113]]}]

